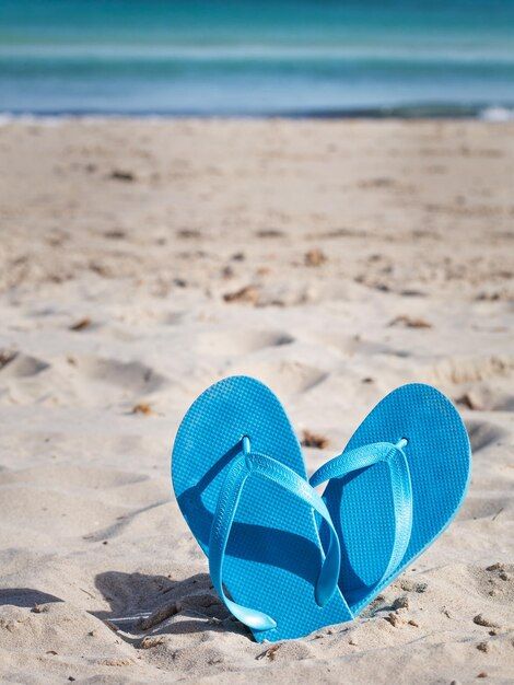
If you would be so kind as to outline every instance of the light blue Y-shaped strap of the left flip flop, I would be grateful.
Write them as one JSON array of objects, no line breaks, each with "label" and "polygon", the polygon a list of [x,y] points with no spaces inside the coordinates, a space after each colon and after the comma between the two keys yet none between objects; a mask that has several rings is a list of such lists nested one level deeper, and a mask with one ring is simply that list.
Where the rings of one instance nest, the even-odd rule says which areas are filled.
[{"label": "light blue Y-shaped strap of the left flip flop", "polygon": [[[222,569],[226,544],[244,485],[253,476],[259,476],[279,485],[306,502],[328,523],[330,543],[314,589],[315,600],[319,606],[325,606],[338,585],[341,554],[330,514],[316,490],[281,462],[265,454],[252,452],[249,439],[243,438],[243,451],[232,462],[218,499],[209,539],[209,572],[218,594],[238,620],[253,630],[269,630],[277,627],[274,618],[233,602],[226,596],[223,589]],[[262,588],[262,592],[267,592],[267,589]]]}]

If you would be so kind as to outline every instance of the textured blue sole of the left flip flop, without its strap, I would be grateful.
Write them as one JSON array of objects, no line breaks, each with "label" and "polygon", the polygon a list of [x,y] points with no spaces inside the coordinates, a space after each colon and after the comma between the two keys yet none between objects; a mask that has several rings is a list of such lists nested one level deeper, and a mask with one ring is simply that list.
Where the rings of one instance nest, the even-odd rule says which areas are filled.
[{"label": "textured blue sole of the left flip flop, without its strap", "polygon": [[[232,376],[205,391],[178,429],[172,480],[180,511],[207,556],[220,489],[244,436],[253,451],[306,479],[297,439],[268,387],[247,376]],[[254,631],[257,641],[297,638],[352,618],[338,590],[324,607],[316,604],[314,588],[323,559],[313,510],[272,481],[248,478],[223,573],[235,602],[277,620],[277,628]]]}]

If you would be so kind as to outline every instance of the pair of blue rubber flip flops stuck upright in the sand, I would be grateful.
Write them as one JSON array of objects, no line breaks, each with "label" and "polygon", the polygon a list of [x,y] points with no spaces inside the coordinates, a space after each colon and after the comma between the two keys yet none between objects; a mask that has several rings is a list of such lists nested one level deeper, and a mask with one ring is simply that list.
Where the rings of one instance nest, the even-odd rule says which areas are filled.
[{"label": "pair of blue rubber flip flops stuck upright in the sand", "polygon": [[259,642],[354,618],[448,525],[469,474],[457,410],[422,384],[387,395],[308,480],[274,394],[227,378],[189,408],[172,460],[212,584]]}]

